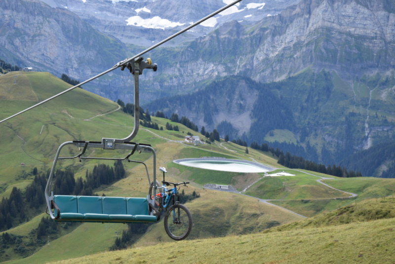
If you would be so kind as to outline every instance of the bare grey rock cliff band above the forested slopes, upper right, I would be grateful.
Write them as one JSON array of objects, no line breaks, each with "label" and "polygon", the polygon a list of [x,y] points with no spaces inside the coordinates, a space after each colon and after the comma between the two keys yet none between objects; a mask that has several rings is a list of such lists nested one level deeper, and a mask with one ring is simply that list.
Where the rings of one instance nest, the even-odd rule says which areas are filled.
[{"label": "bare grey rock cliff band above the forested slopes, upper right", "polygon": [[194,74],[198,80],[200,74],[207,74],[202,79],[241,74],[270,82],[307,67],[335,70],[346,80],[385,72],[395,63],[395,14],[388,5],[303,0],[253,26],[228,23],[184,49],[179,61],[190,64],[176,72],[180,83]]}]

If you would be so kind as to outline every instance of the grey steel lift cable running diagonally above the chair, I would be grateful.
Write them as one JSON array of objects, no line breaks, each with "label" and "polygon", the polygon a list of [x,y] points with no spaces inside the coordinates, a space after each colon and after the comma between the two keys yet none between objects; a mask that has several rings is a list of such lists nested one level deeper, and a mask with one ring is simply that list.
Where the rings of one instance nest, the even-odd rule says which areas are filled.
[{"label": "grey steel lift cable running diagonally above the chair", "polygon": [[231,6],[235,5],[235,4],[237,4],[237,3],[240,2],[240,1],[241,1],[241,0],[235,0],[234,2],[232,2],[232,3],[230,3],[230,4],[226,5],[226,6],[224,6],[224,7],[220,8],[220,9],[218,9],[217,11],[211,13],[210,15],[208,15],[208,16],[202,18],[202,19],[200,19],[199,21],[197,21],[197,22],[195,22],[194,24],[192,24],[192,25],[186,27],[185,29],[183,29],[183,30],[181,30],[181,31],[179,31],[179,32],[177,32],[177,33],[175,33],[174,35],[172,35],[172,36],[170,36],[170,37],[168,37],[168,38],[163,39],[162,41],[160,41],[160,42],[158,42],[157,44],[151,46],[150,48],[148,48],[148,49],[146,49],[146,50],[140,52],[139,54],[133,56],[132,58],[130,58],[130,59],[127,58],[127,59],[125,59],[125,60],[123,60],[123,61],[118,62],[116,65],[113,66],[113,68],[108,69],[107,71],[105,71],[105,72],[103,72],[103,73],[101,73],[101,74],[98,74],[98,75],[96,75],[96,76],[94,76],[94,77],[92,77],[92,78],[90,78],[90,79],[87,79],[87,80],[85,80],[85,81],[79,83],[78,85],[75,85],[75,86],[73,86],[73,87],[71,87],[71,88],[69,88],[69,89],[67,89],[67,90],[64,90],[63,92],[61,92],[61,93],[59,93],[59,94],[57,94],[57,95],[54,95],[54,96],[52,96],[52,97],[50,97],[50,98],[48,98],[48,99],[46,99],[46,100],[44,100],[44,101],[41,101],[40,103],[38,103],[38,104],[36,104],[36,105],[34,105],[34,106],[31,106],[31,107],[29,107],[29,108],[27,108],[27,109],[25,109],[25,110],[23,110],[23,111],[21,111],[21,112],[19,112],[19,113],[15,113],[15,114],[13,114],[13,115],[11,115],[11,116],[8,116],[7,118],[5,118],[5,119],[3,119],[3,120],[0,120],[0,123],[6,121],[6,120],[8,120],[8,119],[11,119],[12,117],[15,117],[15,116],[17,116],[17,115],[19,115],[19,114],[21,114],[21,113],[25,113],[25,112],[27,112],[27,111],[29,111],[29,110],[32,110],[33,108],[38,107],[38,106],[40,106],[40,105],[42,105],[42,104],[44,104],[44,103],[46,103],[46,102],[48,102],[48,101],[50,101],[50,100],[52,100],[52,99],[55,99],[56,97],[61,96],[61,95],[65,94],[65,93],[67,93],[67,92],[69,92],[69,91],[71,91],[71,90],[73,90],[73,89],[79,87],[80,85],[83,85],[83,84],[85,84],[85,83],[88,83],[89,81],[94,80],[94,79],[96,79],[96,78],[98,78],[98,77],[100,77],[100,76],[102,76],[102,75],[108,74],[108,73],[110,73],[111,71],[114,71],[115,69],[117,69],[117,68],[119,68],[119,67],[121,67],[121,66],[125,66],[127,63],[133,61],[134,59],[136,59],[136,58],[138,58],[138,57],[140,57],[140,56],[142,56],[143,54],[147,53],[148,51],[151,51],[152,49],[158,47],[159,45],[162,45],[163,43],[169,41],[170,39],[175,38],[175,37],[177,37],[178,35],[180,35],[180,34],[186,32],[187,30],[192,29],[193,27],[197,26],[198,24],[200,24],[200,23],[204,22],[205,20],[207,20],[207,19],[209,19],[209,18],[215,16],[216,14],[218,14],[218,13],[224,11],[225,9],[227,9],[227,8],[229,8],[229,7],[231,7]]}]

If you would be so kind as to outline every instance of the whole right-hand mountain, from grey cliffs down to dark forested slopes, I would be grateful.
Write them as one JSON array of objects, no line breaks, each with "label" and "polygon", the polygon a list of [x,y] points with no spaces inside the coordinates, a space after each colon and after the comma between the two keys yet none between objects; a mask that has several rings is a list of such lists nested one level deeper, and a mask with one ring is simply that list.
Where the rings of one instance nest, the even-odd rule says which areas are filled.
[{"label": "whole right-hand mountain, from grey cliffs down to dark forested slopes", "polygon": [[[250,27],[228,23],[181,52],[173,50],[171,57],[179,59],[163,75],[177,96],[147,107],[166,111],[175,104],[173,112],[190,113],[198,125],[216,128],[223,137],[292,142],[296,148],[277,146],[324,164],[369,152],[394,140],[394,38],[388,34],[393,10],[394,2],[386,0],[302,0]],[[165,51],[154,51],[159,61],[170,57],[172,51]],[[169,71],[174,68],[178,78]],[[245,77],[258,85],[247,88]],[[179,90],[174,89],[177,80]],[[233,93],[240,89],[245,94]],[[181,96],[182,91],[189,94]],[[284,133],[289,137],[280,138]],[[343,164],[363,176],[394,177],[393,161],[382,157],[359,166],[356,159]]]}]

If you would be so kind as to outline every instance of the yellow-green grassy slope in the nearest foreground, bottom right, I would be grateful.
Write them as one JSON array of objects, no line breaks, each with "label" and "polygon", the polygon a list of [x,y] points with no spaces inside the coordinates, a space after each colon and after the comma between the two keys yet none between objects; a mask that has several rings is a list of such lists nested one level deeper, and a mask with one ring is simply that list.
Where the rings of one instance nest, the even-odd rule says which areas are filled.
[{"label": "yellow-green grassy slope in the nearest foreground, bottom right", "polygon": [[[359,209],[374,211],[382,200],[369,203],[361,203]],[[387,208],[391,208],[388,210],[394,217],[394,201],[387,200],[385,203],[388,203]],[[335,214],[346,218],[354,213],[339,210]],[[322,214],[316,219],[324,223],[331,217]],[[308,221],[312,219],[299,223]],[[351,224],[294,226],[248,235],[187,240],[177,244],[164,242],[56,263],[393,263],[394,232],[394,218],[375,221],[360,218]]]}]

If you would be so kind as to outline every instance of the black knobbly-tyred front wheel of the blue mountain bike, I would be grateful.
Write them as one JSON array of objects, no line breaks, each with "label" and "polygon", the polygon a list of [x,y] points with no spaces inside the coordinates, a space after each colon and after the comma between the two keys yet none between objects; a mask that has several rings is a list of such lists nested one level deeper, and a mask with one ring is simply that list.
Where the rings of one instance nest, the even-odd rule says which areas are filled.
[{"label": "black knobbly-tyred front wheel of the blue mountain bike", "polygon": [[192,229],[191,212],[180,203],[170,206],[164,215],[164,229],[172,239],[183,240]]}]

